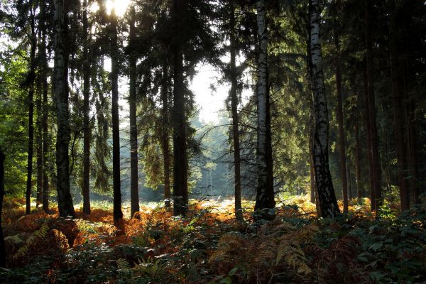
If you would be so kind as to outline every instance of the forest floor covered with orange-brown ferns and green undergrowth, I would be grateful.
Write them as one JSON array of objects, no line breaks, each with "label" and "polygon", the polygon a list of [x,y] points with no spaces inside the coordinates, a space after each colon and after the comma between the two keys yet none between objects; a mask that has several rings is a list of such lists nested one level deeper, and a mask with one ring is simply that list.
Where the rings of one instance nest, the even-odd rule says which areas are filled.
[{"label": "forest floor covered with orange-brown ferns and green undergrowth", "polygon": [[62,219],[24,201],[4,201],[0,283],[426,283],[426,204],[375,218],[353,200],[332,220],[296,196],[256,223],[236,222],[233,200],[193,201],[185,218],[149,204],[114,225],[107,204]]}]

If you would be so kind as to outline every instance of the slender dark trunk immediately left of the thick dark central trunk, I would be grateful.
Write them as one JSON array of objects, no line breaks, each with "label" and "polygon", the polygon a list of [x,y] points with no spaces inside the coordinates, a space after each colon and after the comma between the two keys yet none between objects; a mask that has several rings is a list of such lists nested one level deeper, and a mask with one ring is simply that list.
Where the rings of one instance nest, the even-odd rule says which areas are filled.
[{"label": "slender dark trunk immediately left of the thick dark central trunk", "polygon": [[161,120],[163,136],[161,136],[161,148],[163,151],[163,173],[164,173],[164,199],[165,208],[170,210],[170,144],[169,144],[169,75],[168,62],[163,62],[163,86],[161,87],[161,100],[163,109]]}]

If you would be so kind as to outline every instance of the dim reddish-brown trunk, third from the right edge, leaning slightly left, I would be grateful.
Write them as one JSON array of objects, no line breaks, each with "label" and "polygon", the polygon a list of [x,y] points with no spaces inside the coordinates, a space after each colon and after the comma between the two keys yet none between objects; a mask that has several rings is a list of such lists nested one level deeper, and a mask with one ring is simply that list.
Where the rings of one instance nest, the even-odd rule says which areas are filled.
[{"label": "dim reddish-brown trunk, third from the right edge, leaning slightly left", "polygon": [[374,176],[374,197],[376,198],[376,207],[382,204],[381,195],[381,166],[378,156],[378,135],[376,124],[376,103],[374,97],[374,76],[373,76],[373,51],[371,41],[371,1],[365,0],[365,22],[366,22],[366,65],[367,65],[367,82],[368,82],[368,110],[370,111],[370,133],[371,133],[371,156],[373,161]]}]

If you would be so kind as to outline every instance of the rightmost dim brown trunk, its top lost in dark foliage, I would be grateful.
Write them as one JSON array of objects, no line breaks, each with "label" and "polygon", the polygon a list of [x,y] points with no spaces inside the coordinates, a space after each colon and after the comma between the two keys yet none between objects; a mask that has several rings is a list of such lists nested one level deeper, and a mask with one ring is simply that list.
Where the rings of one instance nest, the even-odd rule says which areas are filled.
[{"label": "rightmost dim brown trunk, its top lost in dark foliage", "polygon": [[420,184],[417,165],[417,143],[415,131],[415,103],[408,100],[408,165],[410,166],[410,187],[413,192],[413,203],[420,204]]}]

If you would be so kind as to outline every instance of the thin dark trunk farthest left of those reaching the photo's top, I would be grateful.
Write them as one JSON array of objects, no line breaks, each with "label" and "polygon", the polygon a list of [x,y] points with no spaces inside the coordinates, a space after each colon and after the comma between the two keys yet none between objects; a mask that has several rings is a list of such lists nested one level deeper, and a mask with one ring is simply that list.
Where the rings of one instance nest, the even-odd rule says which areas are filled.
[{"label": "thin dark trunk farthest left of those reaching the photo's top", "polygon": [[31,1],[31,53],[30,53],[30,72],[28,74],[28,159],[27,159],[27,183],[26,183],[26,210],[25,214],[31,213],[31,187],[33,180],[33,145],[34,145],[34,81],[35,81],[35,48],[37,38],[35,36],[35,16],[33,14]]}]

